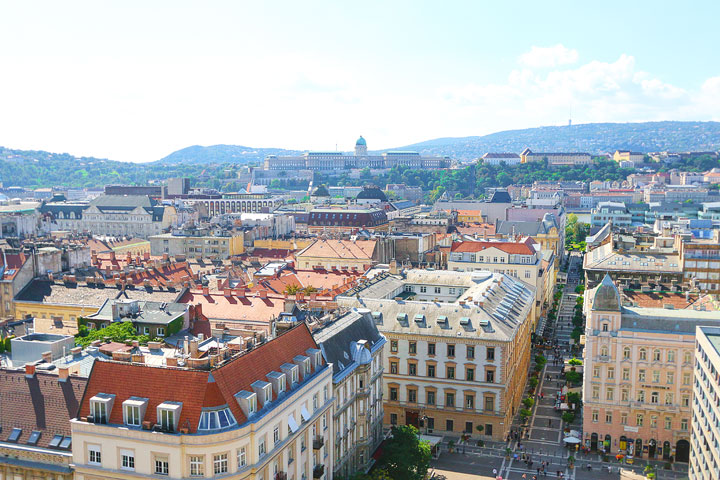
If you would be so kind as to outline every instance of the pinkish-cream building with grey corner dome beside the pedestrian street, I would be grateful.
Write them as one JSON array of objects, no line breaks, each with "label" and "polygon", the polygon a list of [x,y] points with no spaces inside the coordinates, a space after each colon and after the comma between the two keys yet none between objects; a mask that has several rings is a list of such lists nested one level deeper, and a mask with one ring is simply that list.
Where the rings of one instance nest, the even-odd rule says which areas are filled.
[{"label": "pinkish-cream building with grey corner dome beside the pedestrian street", "polygon": [[609,275],[585,293],[583,431],[587,446],[687,462],[695,328],[717,312],[624,307]]}]

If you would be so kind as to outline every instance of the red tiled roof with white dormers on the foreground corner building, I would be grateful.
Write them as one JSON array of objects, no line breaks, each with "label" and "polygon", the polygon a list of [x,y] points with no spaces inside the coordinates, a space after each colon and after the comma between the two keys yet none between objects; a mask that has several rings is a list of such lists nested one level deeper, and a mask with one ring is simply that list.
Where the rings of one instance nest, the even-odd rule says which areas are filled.
[{"label": "red tiled roof with white dormers on the foreground corner building", "polygon": [[[94,363],[79,417],[90,414],[90,399],[98,393],[115,395],[109,423],[123,423],[122,403],[130,397],[148,399],[144,421],[158,423],[157,406],[163,402],[182,402],[179,428],[195,433],[203,407],[227,405],[239,424],[247,420],[234,398],[241,390],[252,391],[256,380],[280,371],[297,355],[317,348],[307,325],[301,323],[279,337],[251,351],[237,355],[213,370],[153,367],[137,363],[98,360]],[[210,374],[212,373],[212,377]],[[132,379],[132,381],[128,381]]]}]

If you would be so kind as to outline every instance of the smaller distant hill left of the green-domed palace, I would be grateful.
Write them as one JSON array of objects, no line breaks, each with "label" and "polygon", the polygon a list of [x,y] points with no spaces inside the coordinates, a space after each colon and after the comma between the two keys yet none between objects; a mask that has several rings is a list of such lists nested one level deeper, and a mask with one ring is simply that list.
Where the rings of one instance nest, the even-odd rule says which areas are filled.
[{"label": "smaller distant hill left of the green-domed palace", "polygon": [[242,145],[211,145],[202,147],[193,145],[171,153],[158,162],[178,163],[254,163],[262,162],[267,155],[297,155],[296,150],[282,148],[252,148]]}]

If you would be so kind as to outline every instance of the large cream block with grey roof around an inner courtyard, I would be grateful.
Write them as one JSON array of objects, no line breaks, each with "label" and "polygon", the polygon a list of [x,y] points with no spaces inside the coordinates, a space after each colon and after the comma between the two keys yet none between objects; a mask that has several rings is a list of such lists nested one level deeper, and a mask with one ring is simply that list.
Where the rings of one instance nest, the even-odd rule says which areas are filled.
[{"label": "large cream block with grey roof around an inner courtyard", "polygon": [[385,424],[504,439],[528,377],[534,293],[487,271],[409,270],[339,297],[387,337]]}]

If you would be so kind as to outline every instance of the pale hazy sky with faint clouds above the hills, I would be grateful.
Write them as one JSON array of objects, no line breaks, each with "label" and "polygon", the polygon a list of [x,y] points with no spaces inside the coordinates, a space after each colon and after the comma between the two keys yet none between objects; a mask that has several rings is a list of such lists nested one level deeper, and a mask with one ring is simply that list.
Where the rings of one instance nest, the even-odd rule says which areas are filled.
[{"label": "pale hazy sky with faint clouds above the hills", "polygon": [[[151,6],[148,6],[151,5]],[[720,120],[720,2],[0,1],[0,145],[398,147]]]}]

